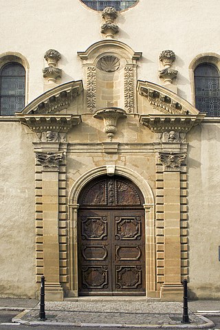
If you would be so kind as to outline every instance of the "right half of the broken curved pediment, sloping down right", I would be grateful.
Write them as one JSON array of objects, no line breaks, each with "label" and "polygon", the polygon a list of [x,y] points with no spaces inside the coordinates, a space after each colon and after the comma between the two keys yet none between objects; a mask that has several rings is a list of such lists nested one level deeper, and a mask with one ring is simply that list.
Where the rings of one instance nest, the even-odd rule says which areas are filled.
[{"label": "right half of the broken curved pediment, sloping down right", "polygon": [[[149,83],[148,81],[138,80],[137,91],[141,96],[148,99],[153,108],[162,113],[171,115],[199,114],[199,111],[192,104],[165,87]],[[205,114],[203,113],[204,116]]]}]

